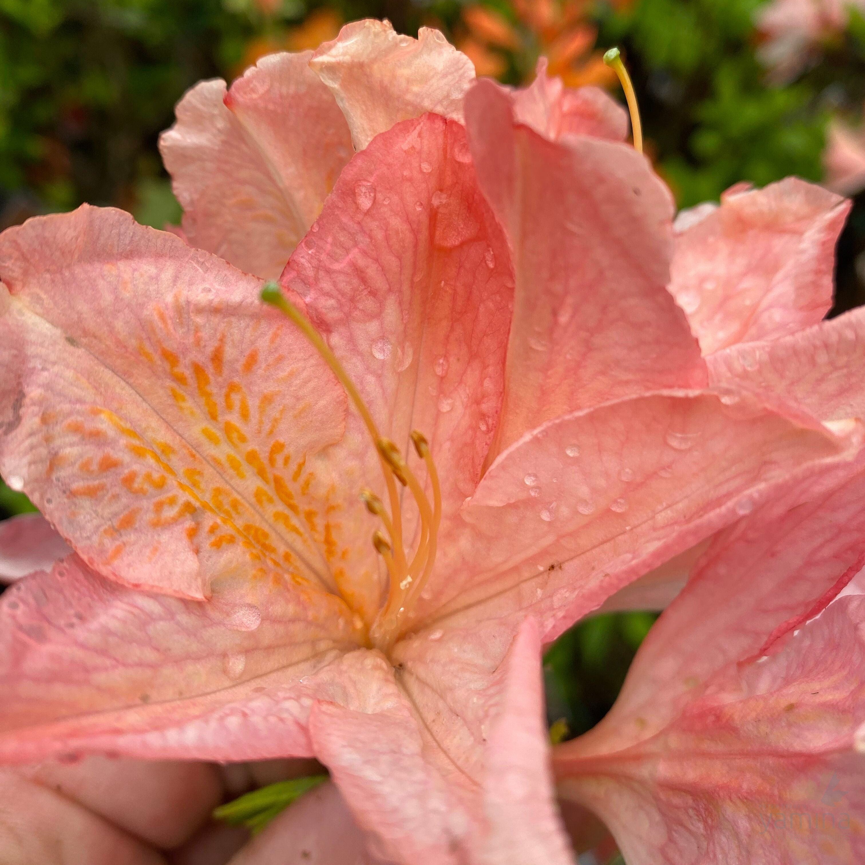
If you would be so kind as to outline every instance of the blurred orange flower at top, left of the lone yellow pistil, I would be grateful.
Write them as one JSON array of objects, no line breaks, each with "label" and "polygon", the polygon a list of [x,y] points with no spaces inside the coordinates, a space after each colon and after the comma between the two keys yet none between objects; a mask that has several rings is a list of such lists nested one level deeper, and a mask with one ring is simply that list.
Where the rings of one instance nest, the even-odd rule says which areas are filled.
[{"label": "blurred orange flower at top, left of the lone yellow pistil", "polygon": [[[631,0],[616,0],[625,8]],[[613,86],[616,75],[594,50],[598,29],[586,20],[586,0],[514,0],[513,18],[482,4],[466,7],[463,23],[467,34],[458,47],[471,57],[477,74],[501,77],[511,55],[522,80],[530,80],[541,55],[549,61],[550,75],[566,86]]]}]

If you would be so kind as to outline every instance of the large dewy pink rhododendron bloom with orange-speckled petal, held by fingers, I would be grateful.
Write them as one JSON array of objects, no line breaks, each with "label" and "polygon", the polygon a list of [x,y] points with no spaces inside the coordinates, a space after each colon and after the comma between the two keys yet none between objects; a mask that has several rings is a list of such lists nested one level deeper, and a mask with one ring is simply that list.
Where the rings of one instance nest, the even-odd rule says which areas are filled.
[{"label": "large dewy pink rhododendron bloom with orange-speckled petal, held by fingers", "polygon": [[859,426],[710,385],[596,91],[362,22],[178,114],[186,240],[0,236],[0,471],[75,550],[0,602],[0,758],[315,756],[374,859],[568,862],[541,646]]}]

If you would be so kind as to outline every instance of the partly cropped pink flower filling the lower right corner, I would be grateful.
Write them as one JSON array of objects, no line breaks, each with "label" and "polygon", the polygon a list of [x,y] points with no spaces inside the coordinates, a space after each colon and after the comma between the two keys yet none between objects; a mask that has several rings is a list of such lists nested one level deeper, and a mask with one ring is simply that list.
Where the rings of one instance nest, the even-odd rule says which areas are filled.
[{"label": "partly cropped pink flower filling the lower right corner", "polygon": [[612,712],[555,753],[628,862],[865,855],[865,598],[825,609],[865,563],[865,472],[794,500],[713,542]]}]

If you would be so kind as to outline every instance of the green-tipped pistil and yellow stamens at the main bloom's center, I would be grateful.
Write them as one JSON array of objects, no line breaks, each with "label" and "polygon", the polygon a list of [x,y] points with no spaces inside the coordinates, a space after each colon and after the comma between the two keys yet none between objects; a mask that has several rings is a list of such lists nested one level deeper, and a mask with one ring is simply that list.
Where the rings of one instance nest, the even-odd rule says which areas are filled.
[{"label": "green-tipped pistil and yellow stamens at the main bloom's center", "polygon": [[[354,381],[351,381],[349,374],[343,368],[343,364],[330,350],[330,346],[324,341],[324,337],[315,329],[311,321],[285,297],[280,291],[279,285],[274,282],[266,283],[261,291],[261,299],[289,317],[310,341],[318,354],[324,358],[324,362],[333,370],[334,375],[345,388],[345,392],[354,402],[378,453],[381,474],[388,491],[389,513],[388,508],[372,490],[362,490],[361,498],[369,513],[381,520],[381,526],[384,529],[384,532],[381,529],[375,530],[372,543],[388,568],[388,597],[381,606],[370,630],[369,638],[377,648],[387,652],[400,636],[407,611],[420,598],[420,593],[426,580],[429,579],[432,566],[435,563],[439,523],[441,522],[441,489],[439,473],[432,461],[429,444],[422,432],[417,430],[412,432],[414,449],[426,464],[426,471],[432,487],[432,503],[430,503],[423,487],[409,468],[399,448],[379,432],[372,413],[363,401]],[[397,484],[407,487],[411,492],[420,514],[420,541],[410,559],[403,539],[402,511]]]}]

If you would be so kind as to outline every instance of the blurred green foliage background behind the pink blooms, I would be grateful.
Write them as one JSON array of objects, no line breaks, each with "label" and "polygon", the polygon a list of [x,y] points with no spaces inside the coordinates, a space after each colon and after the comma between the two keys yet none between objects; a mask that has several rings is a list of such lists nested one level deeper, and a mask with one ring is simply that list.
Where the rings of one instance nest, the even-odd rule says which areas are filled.
[{"label": "blurred green foliage background behind the pink blooms", "polygon": [[[865,187],[865,0],[0,0],[0,229],[80,202],[180,218],[157,136],[197,80],[315,48],[343,22],[443,29],[479,74],[609,87],[618,45],[646,150],[681,207],[798,175]],[[839,247],[835,311],[865,299],[865,195]],[[29,509],[0,482],[0,519]],[[548,652],[555,735],[606,713],[654,617],[606,615]]]}]

